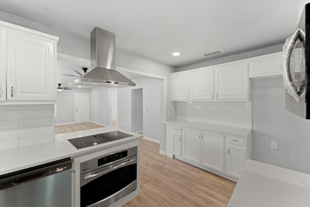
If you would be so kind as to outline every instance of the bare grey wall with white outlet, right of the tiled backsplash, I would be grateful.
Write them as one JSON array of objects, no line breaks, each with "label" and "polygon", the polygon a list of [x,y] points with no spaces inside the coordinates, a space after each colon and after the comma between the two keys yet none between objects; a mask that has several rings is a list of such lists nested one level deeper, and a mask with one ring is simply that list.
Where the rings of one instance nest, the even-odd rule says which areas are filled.
[{"label": "bare grey wall with white outlet, right of the tiled backsplash", "polygon": [[[310,174],[310,120],[285,110],[283,79],[252,80],[252,159]],[[270,148],[278,142],[278,150]]]}]

